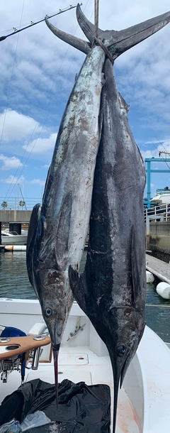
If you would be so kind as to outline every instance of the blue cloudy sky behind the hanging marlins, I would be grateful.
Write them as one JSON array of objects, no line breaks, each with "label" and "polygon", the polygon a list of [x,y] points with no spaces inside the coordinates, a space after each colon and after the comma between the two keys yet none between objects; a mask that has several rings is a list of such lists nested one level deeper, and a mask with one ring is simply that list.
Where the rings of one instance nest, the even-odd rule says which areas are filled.
[{"label": "blue cloudy sky behind the hanging marlins", "polygon": [[[1,0],[0,36],[68,6],[67,0]],[[81,7],[94,21],[94,0]],[[120,30],[166,11],[168,0],[100,0],[99,26]],[[50,21],[84,38],[75,9]],[[143,158],[170,151],[169,40],[170,24],[115,60],[116,82],[130,104],[130,127]],[[13,207],[22,192],[31,207],[42,197],[64,106],[85,55],[43,22],[0,42],[0,57],[0,201]],[[167,169],[154,163],[161,167]],[[152,195],[165,186],[169,173],[152,174]]]}]

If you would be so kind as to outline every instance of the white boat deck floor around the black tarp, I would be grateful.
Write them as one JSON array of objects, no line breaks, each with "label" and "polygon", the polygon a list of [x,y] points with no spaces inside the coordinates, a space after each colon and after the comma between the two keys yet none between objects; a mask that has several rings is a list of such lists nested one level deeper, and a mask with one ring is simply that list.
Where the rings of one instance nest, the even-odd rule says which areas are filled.
[{"label": "white boat deck floor around the black tarp", "polygon": [[[53,359],[51,363],[39,363],[38,371],[26,370],[26,381],[40,378],[48,383],[55,383]],[[105,383],[111,388],[113,400],[112,368],[109,356],[96,356],[88,347],[72,348],[64,346],[59,355],[59,382],[64,379],[74,383],[81,381],[86,385]],[[7,383],[0,383],[0,403],[5,396],[13,393],[21,385],[21,376],[13,371]],[[111,410],[112,414],[112,410]],[[124,388],[119,391],[116,433],[140,433],[135,411],[132,408]]]}]

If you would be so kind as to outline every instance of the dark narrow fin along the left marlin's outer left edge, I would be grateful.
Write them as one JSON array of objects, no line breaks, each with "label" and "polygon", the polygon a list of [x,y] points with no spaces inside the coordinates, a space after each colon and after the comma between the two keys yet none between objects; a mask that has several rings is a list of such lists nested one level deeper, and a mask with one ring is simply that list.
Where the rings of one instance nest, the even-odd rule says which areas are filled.
[{"label": "dark narrow fin along the left marlin's outer left edge", "polygon": [[26,248],[26,262],[27,262],[27,271],[28,278],[30,280],[30,284],[33,285],[33,271],[32,271],[32,259],[33,259],[33,250],[35,243],[35,235],[38,229],[38,210],[40,204],[35,204],[33,207],[33,211],[30,216],[30,223],[28,228],[28,238],[27,238],[27,248]]}]

